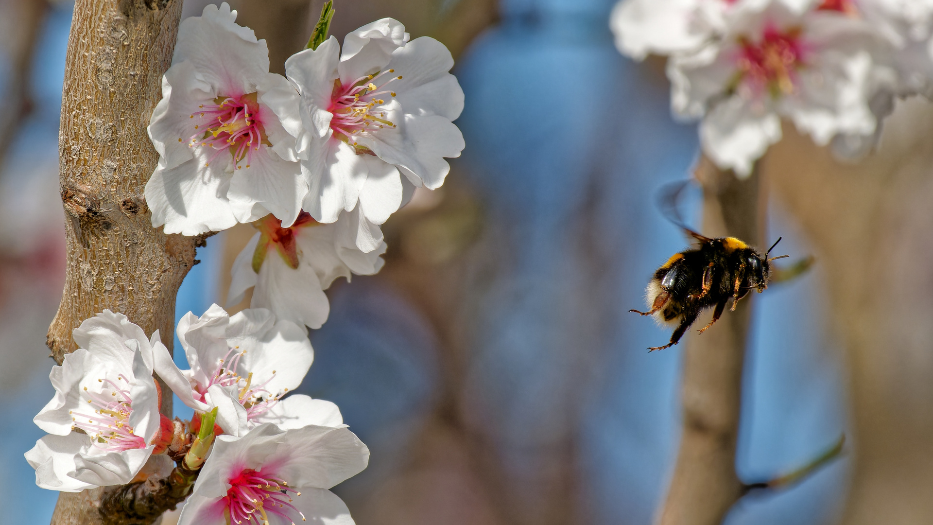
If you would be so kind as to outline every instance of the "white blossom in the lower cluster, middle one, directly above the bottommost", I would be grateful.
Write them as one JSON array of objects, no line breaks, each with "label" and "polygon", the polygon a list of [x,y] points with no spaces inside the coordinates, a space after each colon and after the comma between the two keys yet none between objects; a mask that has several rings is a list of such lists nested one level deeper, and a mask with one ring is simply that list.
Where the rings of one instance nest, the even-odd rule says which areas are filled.
[{"label": "white blossom in the lower cluster, middle one, directly above the bottommost", "polygon": [[246,433],[297,388],[314,358],[303,328],[262,308],[230,316],[211,305],[200,318],[188,312],[178,321],[177,334],[190,368],[179,370],[160,348],[154,354],[156,373],[194,410],[217,407],[217,425],[231,435]]}]

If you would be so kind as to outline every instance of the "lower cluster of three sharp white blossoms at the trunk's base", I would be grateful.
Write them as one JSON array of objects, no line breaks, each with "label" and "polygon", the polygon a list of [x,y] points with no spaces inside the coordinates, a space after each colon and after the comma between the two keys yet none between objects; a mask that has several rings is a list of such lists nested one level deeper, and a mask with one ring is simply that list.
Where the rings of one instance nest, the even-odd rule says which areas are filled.
[{"label": "lower cluster of three sharp white blossoms at the trunk's base", "polygon": [[[81,348],[52,368],[55,397],[35,417],[49,433],[26,453],[35,482],[77,492],[146,478],[157,457],[190,447],[210,416],[213,448],[181,523],[268,523],[342,518],[330,487],[356,475],[369,449],[343,424],[335,404],[292,394],[313,361],[305,329],[265,309],[229,316],[213,305],[188,313],[178,339],[188,370],[175,366],[158,331],[109,310],[75,330]],[[156,376],[195,411],[190,421],[161,416]],[[187,460],[186,460],[187,461]],[[302,495],[303,494],[303,495]]]}]

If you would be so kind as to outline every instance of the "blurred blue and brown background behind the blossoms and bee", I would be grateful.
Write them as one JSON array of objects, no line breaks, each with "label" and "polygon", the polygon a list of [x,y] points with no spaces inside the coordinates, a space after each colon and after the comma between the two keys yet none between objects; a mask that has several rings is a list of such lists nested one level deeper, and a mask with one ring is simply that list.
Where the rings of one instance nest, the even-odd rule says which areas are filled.
[{"label": "blurred blue and brown background behind the blossoms and bee", "polygon": [[[184,16],[206,3],[186,0]],[[322,0],[231,4],[284,72]],[[674,466],[683,347],[649,354],[669,333],[627,310],[687,246],[654,202],[698,156],[695,127],[670,116],[663,64],[620,56],[608,0],[335,7],[339,38],[387,16],[412,37],[438,38],[466,92],[456,122],[466,149],[447,182],[384,225],[382,273],[335,283],[330,318],[312,333],[299,391],[339,404],[372,451],[369,468],[336,491],[360,525],[650,523]],[[52,395],[45,333],[64,276],[57,135],[72,9],[0,0],[9,523],[48,523],[57,498],[35,487],[22,454]],[[737,468],[766,479],[840,433],[850,440],[841,461],[792,490],[743,499],[730,524],[857,522],[890,517],[884,505],[900,518],[874,523],[930,522],[933,111],[909,101],[885,125],[881,149],[858,165],[790,126],[764,161],[767,238],[783,235],[782,253],[817,263],[755,299]],[[698,224],[699,193],[682,204]],[[230,263],[251,234],[240,225],[199,249],[178,317],[224,304]],[[856,500],[877,505],[856,512]]]}]

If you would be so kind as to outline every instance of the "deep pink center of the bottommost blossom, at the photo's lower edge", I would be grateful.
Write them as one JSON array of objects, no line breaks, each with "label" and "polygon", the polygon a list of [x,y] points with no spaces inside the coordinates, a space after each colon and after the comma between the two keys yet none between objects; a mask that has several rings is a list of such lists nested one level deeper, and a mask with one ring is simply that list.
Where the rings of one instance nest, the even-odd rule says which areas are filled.
[{"label": "deep pink center of the bottommost blossom, at the photo's lower edge", "polygon": [[[269,515],[288,519],[295,525],[295,518],[305,521],[304,515],[295,508],[289,492],[298,492],[275,476],[265,476],[252,469],[244,469],[228,480],[230,489],[223,497],[226,505],[224,516],[228,523],[261,523],[269,525]],[[256,518],[256,521],[252,521]]]}]

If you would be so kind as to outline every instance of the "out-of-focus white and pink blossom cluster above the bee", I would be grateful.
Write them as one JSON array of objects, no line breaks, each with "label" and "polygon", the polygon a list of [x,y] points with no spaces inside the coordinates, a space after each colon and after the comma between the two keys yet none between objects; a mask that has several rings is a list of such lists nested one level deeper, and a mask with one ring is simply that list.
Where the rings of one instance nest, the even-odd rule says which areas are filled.
[{"label": "out-of-focus white and pink blossom cluster above the bee", "polygon": [[611,25],[637,60],[668,55],[675,115],[739,176],[792,121],[843,156],[872,148],[894,99],[933,90],[926,0],[623,0]]}]

